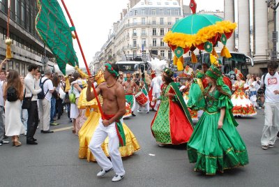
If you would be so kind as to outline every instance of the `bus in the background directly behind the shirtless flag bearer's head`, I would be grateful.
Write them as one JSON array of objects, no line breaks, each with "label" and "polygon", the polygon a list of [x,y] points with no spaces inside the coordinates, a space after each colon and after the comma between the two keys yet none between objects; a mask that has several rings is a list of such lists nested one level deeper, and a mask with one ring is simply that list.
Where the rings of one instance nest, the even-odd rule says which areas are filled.
[{"label": "bus in the background directly behind the shirtless flag bearer's head", "polygon": [[144,70],[149,70],[149,64],[144,61],[117,61],[115,64],[123,74],[134,73],[135,71],[140,72],[140,70],[142,70],[142,72],[144,72]]}]

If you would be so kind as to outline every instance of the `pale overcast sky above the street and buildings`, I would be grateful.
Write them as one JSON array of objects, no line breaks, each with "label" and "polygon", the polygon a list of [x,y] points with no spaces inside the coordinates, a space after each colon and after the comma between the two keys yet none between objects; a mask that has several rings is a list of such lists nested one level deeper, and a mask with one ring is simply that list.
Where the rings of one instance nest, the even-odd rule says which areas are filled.
[{"label": "pale overcast sky above the street and buildings", "polygon": [[[59,3],[61,2],[58,0]],[[197,11],[199,10],[224,10],[224,0],[195,0]],[[87,64],[93,61],[96,52],[100,51],[108,38],[112,24],[120,19],[122,9],[127,8],[128,0],[64,0],[68,11],[75,24],[77,35],[80,38],[82,50]],[[213,3],[214,2],[214,3]],[[190,0],[184,0],[183,4],[189,5]],[[61,4],[61,8],[63,6]],[[64,13],[67,17],[66,13]],[[69,25],[70,22],[68,21]],[[82,54],[73,40],[75,52],[84,67]]]}]

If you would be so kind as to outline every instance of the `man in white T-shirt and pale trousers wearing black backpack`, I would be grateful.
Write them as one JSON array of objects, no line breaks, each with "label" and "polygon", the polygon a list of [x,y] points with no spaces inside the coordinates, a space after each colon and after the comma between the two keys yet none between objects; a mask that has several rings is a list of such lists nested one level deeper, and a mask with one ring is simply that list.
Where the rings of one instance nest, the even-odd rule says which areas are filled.
[{"label": "man in white T-shirt and pale trousers wearing black backpack", "polygon": [[[53,87],[52,80],[52,71],[50,69],[45,70],[45,76],[40,79],[40,82],[44,82],[43,90],[45,93],[45,98],[39,99],[39,112],[40,112],[40,133],[53,133],[53,130],[50,130],[50,107],[52,93],[55,90]],[[48,79],[48,80],[47,80]]]}]

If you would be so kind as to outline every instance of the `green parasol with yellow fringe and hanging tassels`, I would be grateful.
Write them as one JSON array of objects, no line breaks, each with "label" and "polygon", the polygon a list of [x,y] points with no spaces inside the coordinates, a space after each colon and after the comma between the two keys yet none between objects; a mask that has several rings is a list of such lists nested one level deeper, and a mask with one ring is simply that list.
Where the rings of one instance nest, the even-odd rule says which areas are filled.
[{"label": "green parasol with yellow fringe and hanging tassels", "polygon": [[210,52],[212,54],[211,63],[215,62],[215,57],[218,57],[218,55],[214,47],[218,44],[218,41],[224,45],[220,55],[226,58],[231,57],[225,45],[227,39],[232,36],[234,29],[236,29],[236,23],[223,21],[216,15],[196,14],[196,7],[193,7],[192,3],[193,0],[190,3],[193,15],[176,22],[164,37],[165,43],[174,52],[174,65],[177,65],[177,70],[183,70],[183,54],[189,51],[192,54],[192,63],[197,62],[194,54],[196,48]]}]

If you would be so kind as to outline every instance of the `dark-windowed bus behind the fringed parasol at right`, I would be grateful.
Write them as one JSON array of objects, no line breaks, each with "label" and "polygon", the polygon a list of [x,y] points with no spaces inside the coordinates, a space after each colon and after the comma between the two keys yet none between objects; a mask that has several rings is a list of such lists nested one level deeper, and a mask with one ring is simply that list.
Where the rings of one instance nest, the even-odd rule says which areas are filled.
[{"label": "dark-windowed bus behind the fringed parasol at right", "polygon": [[[233,71],[234,68],[238,68],[241,73],[246,77],[248,75],[248,64],[254,66],[254,61],[251,57],[246,56],[240,52],[231,52],[232,57],[227,59],[225,57],[220,56],[220,52],[217,52],[220,60],[222,62],[222,71],[225,74],[229,74],[230,71]],[[206,63],[208,66],[210,63],[210,53],[204,52],[201,55],[197,54],[197,63],[191,62],[191,57],[184,58],[184,66],[190,66],[193,70],[202,69],[202,63]]]}]

